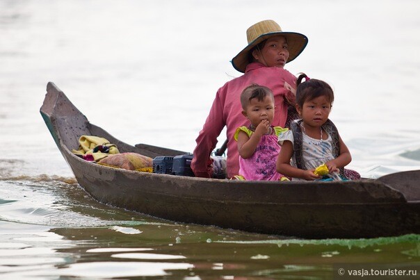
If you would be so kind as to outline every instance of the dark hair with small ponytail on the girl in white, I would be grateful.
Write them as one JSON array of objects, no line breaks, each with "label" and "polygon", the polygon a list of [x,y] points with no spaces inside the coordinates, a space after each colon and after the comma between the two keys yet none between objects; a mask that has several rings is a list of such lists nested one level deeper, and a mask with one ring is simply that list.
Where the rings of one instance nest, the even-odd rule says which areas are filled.
[{"label": "dark hair with small ponytail on the girl in white", "polygon": [[[302,79],[305,82],[302,83]],[[316,97],[325,96],[332,105],[334,102],[334,92],[328,83],[317,79],[309,79],[305,73],[301,73],[296,81],[296,104],[302,108],[305,101],[310,101]]]}]

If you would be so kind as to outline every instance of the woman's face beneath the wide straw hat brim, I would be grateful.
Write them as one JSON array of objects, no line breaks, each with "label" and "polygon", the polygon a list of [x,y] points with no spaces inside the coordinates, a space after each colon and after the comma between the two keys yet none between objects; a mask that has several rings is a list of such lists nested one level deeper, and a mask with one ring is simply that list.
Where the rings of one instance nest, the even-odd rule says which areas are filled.
[{"label": "woman's face beneath the wide straw hat brim", "polygon": [[266,67],[280,67],[283,68],[289,59],[289,50],[287,49],[287,40],[282,35],[277,35],[269,38],[260,51],[255,51],[254,56],[257,56],[259,63],[266,65]]}]

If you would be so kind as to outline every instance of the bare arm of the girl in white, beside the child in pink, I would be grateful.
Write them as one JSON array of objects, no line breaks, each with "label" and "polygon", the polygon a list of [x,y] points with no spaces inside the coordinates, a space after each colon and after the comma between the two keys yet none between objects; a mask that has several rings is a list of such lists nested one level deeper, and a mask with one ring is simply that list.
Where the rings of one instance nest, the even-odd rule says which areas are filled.
[{"label": "bare arm of the girl in white, beside the child in pink", "polygon": [[314,170],[301,170],[290,165],[290,159],[293,156],[293,144],[290,141],[284,141],[280,154],[277,157],[277,172],[284,176],[300,178],[305,180],[320,179],[321,176],[314,174]]}]

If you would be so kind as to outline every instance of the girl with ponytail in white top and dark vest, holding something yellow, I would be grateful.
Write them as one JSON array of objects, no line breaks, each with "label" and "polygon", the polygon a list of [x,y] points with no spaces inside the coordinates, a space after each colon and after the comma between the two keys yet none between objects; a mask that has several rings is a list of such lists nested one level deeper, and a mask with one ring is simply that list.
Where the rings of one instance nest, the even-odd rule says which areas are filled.
[{"label": "girl with ponytail in white top and dark vest, holding something yellow", "polygon": [[[277,157],[277,172],[293,180],[345,180],[344,166],[350,163],[351,155],[328,119],[334,101],[332,88],[306,74],[298,77],[297,85],[296,110],[302,119],[292,122],[291,129],[279,135],[282,149]],[[323,164],[328,174],[321,176],[315,169]]]}]

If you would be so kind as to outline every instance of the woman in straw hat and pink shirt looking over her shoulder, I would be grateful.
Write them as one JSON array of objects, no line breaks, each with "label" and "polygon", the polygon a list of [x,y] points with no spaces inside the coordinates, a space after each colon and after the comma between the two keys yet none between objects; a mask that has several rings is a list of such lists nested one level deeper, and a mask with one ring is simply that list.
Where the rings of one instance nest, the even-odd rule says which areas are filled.
[{"label": "woman in straw hat and pink shirt looking over her shoulder", "polygon": [[233,59],[232,65],[243,72],[223,85],[216,93],[210,113],[200,131],[194,149],[191,168],[197,177],[211,178],[211,151],[216,147],[217,137],[227,126],[227,177],[239,174],[239,152],[234,133],[247,122],[242,115],[241,92],[252,83],[264,85],[273,91],[275,118],[273,126],[286,124],[287,108],[295,100],[296,76],[284,69],[305,49],[308,39],[305,35],[283,32],[273,20],[264,20],[247,30],[248,46]]}]

